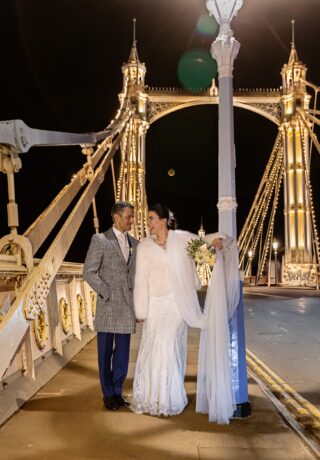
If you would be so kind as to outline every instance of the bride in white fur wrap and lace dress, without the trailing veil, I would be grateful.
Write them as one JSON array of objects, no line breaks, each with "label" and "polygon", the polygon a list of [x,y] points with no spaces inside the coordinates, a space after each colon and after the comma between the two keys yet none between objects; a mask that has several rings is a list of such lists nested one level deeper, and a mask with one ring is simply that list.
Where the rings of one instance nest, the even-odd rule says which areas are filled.
[{"label": "bride in white fur wrap and lace dress, without the trailing veil", "polygon": [[[184,376],[187,324],[204,327],[199,278],[186,246],[197,235],[173,230],[172,213],[149,208],[150,237],[138,246],[134,288],[137,320],[145,320],[133,382],[132,409],[151,415],[180,414],[188,403]],[[212,244],[220,249],[220,239]]]}]

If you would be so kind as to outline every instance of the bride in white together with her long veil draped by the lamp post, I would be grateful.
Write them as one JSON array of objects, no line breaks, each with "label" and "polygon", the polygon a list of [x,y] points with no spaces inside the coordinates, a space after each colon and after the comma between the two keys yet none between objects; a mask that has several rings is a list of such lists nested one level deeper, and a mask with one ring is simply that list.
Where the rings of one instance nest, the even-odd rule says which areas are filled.
[{"label": "bride in white together with her long veil draped by the lamp post", "polygon": [[[228,271],[227,290],[224,259],[235,266],[233,242],[226,238],[222,244],[220,238],[225,235],[207,235],[210,241],[213,238],[217,263],[202,313],[197,297],[199,278],[186,251],[188,242],[198,236],[174,230],[174,217],[161,204],[149,207],[148,226],[151,236],[141,241],[137,251],[134,306],[137,320],[144,320],[144,325],[132,409],[151,415],[177,415],[183,411],[188,403],[184,376],[189,325],[202,330],[196,410],[208,413],[210,421],[228,423],[234,410],[228,307],[230,317],[239,300],[239,271],[238,267]],[[219,254],[222,246],[229,248],[225,257]]]}]

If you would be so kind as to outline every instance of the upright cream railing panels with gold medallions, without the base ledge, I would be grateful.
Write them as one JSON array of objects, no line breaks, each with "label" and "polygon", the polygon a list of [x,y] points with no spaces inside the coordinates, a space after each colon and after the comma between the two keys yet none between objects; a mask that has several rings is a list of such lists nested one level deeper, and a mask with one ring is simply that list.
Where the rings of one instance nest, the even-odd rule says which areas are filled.
[{"label": "upright cream railing panels with gold medallions, without the base ledge", "polygon": [[[39,261],[35,262],[38,265]],[[11,273],[15,283],[2,286],[0,300],[4,309],[10,310],[11,303],[21,289],[19,274]],[[5,372],[3,385],[24,375],[35,378],[39,362],[52,353],[63,356],[65,345],[76,337],[93,331],[96,294],[82,278],[82,264],[63,263],[48,296],[37,317],[30,321],[29,328],[21,340],[11,365]],[[89,333],[89,337],[93,334]],[[3,350],[1,350],[1,356]]]}]

